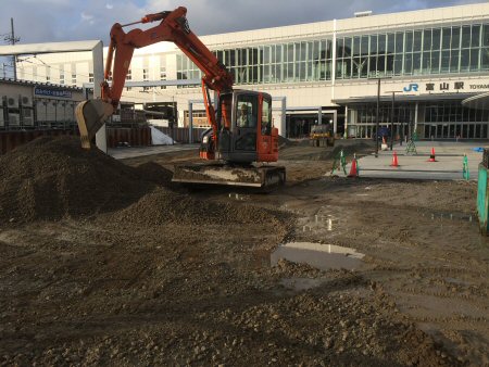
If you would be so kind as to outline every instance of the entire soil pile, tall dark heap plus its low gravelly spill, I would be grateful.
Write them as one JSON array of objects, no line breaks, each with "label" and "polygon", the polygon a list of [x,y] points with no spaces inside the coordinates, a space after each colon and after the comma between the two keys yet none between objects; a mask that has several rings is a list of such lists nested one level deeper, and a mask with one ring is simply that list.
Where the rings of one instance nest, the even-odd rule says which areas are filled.
[{"label": "entire soil pile, tall dark heap plus its low gravelly spill", "polygon": [[248,205],[172,190],[172,172],[152,162],[129,167],[76,138],[40,138],[0,157],[0,222],[27,223],[111,213],[116,222],[161,224],[271,223]]}]

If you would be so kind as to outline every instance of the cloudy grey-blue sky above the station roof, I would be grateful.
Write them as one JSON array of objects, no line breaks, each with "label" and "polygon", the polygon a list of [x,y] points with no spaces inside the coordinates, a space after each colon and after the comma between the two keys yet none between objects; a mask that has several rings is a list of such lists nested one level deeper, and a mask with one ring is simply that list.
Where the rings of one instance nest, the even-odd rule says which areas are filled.
[{"label": "cloudy grey-blue sky above the station roof", "polygon": [[0,35],[22,43],[102,39],[108,45],[114,23],[148,13],[187,7],[190,28],[198,36],[374,14],[480,3],[480,0],[0,0]]}]

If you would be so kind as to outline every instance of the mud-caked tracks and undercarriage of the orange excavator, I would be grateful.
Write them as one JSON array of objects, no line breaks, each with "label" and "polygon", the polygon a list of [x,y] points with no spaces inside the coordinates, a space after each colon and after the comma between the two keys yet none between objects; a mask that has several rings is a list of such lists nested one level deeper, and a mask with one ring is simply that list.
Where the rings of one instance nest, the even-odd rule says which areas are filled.
[{"label": "mud-caked tracks and undercarriage of the orange excavator", "polygon": [[268,189],[286,181],[283,166],[239,166],[224,163],[176,165],[173,182],[187,185],[228,185]]}]

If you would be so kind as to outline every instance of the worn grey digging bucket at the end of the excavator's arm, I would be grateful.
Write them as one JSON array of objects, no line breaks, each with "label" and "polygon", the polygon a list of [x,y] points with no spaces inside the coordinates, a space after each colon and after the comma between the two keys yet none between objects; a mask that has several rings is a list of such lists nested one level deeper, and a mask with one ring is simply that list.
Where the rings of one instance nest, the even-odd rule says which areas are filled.
[{"label": "worn grey digging bucket at the end of the excavator's arm", "polygon": [[90,149],[91,139],[113,114],[113,111],[112,104],[102,100],[87,100],[78,103],[75,115],[82,139],[82,148]]}]

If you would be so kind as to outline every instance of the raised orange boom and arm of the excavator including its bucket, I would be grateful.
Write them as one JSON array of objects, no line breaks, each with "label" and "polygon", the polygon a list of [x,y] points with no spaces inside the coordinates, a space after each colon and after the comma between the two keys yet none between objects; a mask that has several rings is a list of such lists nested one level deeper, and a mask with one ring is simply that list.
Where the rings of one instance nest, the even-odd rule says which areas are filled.
[{"label": "raised orange boom and arm of the excavator including its bucket", "polygon": [[[186,14],[187,9],[180,7],[172,12],[148,14],[139,22],[126,25],[116,23],[112,26],[111,42],[105,62],[105,80],[101,85],[101,100],[84,101],[76,109],[76,118],[84,148],[90,148],[91,138],[113,114],[113,111],[117,109],[135,49],[161,41],[174,42],[202,71],[204,87],[217,92],[233,90],[231,74],[190,30]],[[136,28],[125,33],[123,29],[127,25],[156,21],[161,21],[161,23],[146,30]],[[109,85],[108,80],[111,76],[112,85]],[[206,104],[211,104],[208,99]],[[208,118],[215,130],[215,116],[212,106],[209,107],[209,105],[206,105]]]}]

